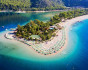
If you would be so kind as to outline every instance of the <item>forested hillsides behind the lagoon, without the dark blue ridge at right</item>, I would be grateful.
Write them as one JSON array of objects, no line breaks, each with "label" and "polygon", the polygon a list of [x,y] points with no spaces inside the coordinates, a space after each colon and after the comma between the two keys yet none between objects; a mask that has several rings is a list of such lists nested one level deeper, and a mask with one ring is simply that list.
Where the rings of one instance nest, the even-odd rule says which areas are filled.
[{"label": "forested hillsides behind the lagoon, without the dark blue ridge at right", "polygon": [[65,8],[61,0],[0,0],[0,10],[42,11]]}]

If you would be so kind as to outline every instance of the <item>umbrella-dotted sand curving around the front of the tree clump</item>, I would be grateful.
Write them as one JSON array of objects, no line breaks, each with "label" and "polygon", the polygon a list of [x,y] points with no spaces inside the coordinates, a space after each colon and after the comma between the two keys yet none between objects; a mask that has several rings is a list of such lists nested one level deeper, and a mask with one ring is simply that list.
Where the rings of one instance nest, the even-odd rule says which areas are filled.
[{"label": "umbrella-dotted sand curving around the front of the tree clump", "polygon": [[[51,55],[53,53],[58,52],[62,48],[62,46],[64,46],[64,43],[65,43],[65,35],[64,35],[65,33],[64,32],[65,32],[64,29],[61,31],[57,31],[56,34],[59,36],[55,36],[55,37],[53,37],[54,39],[49,40],[48,42],[45,41],[43,43],[42,42],[36,43],[33,41],[26,41],[24,39],[14,38],[14,34],[12,35],[13,31],[7,32],[4,35],[4,37],[9,40],[19,41],[21,43],[24,43],[25,45],[31,47],[37,53],[40,53],[43,55]],[[11,35],[9,35],[10,33],[11,33]],[[57,48],[57,50],[56,50],[56,48]]]}]

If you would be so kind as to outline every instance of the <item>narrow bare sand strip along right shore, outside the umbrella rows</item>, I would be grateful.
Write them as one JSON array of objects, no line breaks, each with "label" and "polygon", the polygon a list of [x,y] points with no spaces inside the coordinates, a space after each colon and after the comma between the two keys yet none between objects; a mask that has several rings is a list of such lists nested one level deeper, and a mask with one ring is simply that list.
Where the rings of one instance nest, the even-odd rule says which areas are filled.
[{"label": "narrow bare sand strip along right shore, outside the umbrella rows", "polygon": [[64,50],[66,48],[66,46],[68,44],[68,39],[69,39],[68,33],[70,31],[71,26],[76,24],[77,22],[81,22],[81,21],[86,20],[86,19],[88,19],[88,15],[83,15],[83,16],[75,17],[75,18],[72,18],[70,20],[66,20],[65,22],[61,22],[61,25],[64,25],[66,27],[66,29],[65,29],[66,41],[65,41],[64,47],[60,51],[58,51],[58,52],[61,52],[62,50]]}]

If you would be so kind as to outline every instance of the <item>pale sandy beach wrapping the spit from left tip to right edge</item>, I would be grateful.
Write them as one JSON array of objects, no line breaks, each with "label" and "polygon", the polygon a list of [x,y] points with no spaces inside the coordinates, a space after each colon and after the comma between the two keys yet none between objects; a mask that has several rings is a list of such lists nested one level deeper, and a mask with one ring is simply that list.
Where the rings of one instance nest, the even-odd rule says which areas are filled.
[{"label": "pale sandy beach wrapping the spit from left tip to right edge", "polygon": [[[53,53],[51,53],[51,54],[49,54],[49,55],[47,55],[47,56],[52,56],[52,55],[55,55],[55,54],[57,54],[57,53],[59,53],[59,52],[61,52],[61,51],[63,51],[66,47],[67,47],[67,44],[68,44],[68,32],[69,32],[69,30],[70,30],[70,27],[74,24],[74,23],[76,23],[76,22],[80,22],[80,21],[82,21],[82,20],[85,20],[85,19],[88,19],[88,15],[84,15],[84,16],[79,16],[79,17],[76,17],[76,18],[73,18],[73,19],[70,19],[70,20],[66,20],[65,22],[61,22],[60,23],[60,25],[61,26],[63,26],[63,27],[65,27],[65,29],[64,29],[64,31],[65,31],[65,38],[64,38],[64,44],[61,44],[60,45],[60,47],[59,47],[59,50],[57,50],[56,52],[54,52],[53,51]],[[44,42],[44,43],[40,43],[40,44],[37,44],[36,46],[37,47],[39,47],[39,48],[37,48],[37,49],[39,49],[39,51],[41,50],[41,52],[43,52],[43,51],[46,51],[46,50],[49,50],[49,48],[52,46],[53,47],[53,45],[55,45],[56,44],[56,42],[60,42],[60,40],[61,40],[61,37],[60,36],[62,36],[62,31],[58,31],[57,32],[57,37],[55,37],[54,39],[52,39],[51,41],[49,41],[49,42]],[[4,34],[6,34],[6,33],[4,33]],[[3,39],[4,37],[4,34],[1,36],[1,38]],[[5,39],[6,40],[6,39]],[[9,40],[9,39],[7,39],[8,40],[8,42],[14,42],[14,43],[17,43],[18,41],[16,41],[16,40]],[[21,42],[19,42],[19,43],[21,43]],[[42,47],[41,47],[41,45],[42,45]],[[36,49],[36,46],[35,45],[33,45],[33,46],[28,46],[28,45],[26,45],[26,44],[24,44],[24,46],[23,46],[23,48],[24,48],[24,51],[26,51],[27,52],[27,50],[29,49],[29,50],[32,50],[32,52],[34,51],[36,54],[38,54],[38,55],[42,55],[42,53],[41,52],[39,52],[37,49]],[[51,47],[51,49],[52,49],[52,47]],[[57,47],[58,47],[58,45],[57,45]],[[26,49],[25,49],[26,48]],[[45,50],[44,50],[45,49]],[[36,51],[37,50],[37,51]],[[52,52],[52,51],[51,51]],[[28,54],[28,53],[27,53]],[[43,55],[42,55],[43,56]]]}]

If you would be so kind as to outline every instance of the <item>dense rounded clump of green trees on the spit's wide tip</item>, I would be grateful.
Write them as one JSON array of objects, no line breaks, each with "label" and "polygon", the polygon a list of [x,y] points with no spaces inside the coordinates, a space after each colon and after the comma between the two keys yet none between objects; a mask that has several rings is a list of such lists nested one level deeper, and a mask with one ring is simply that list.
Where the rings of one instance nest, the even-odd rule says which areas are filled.
[{"label": "dense rounded clump of green trees on the spit's wide tip", "polygon": [[[16,35],[25,39],[29,39],[31,35],[39,35],[44,41],[50,39],[55,31],[55,29],[50,30],[49,26],[49,24],[36,19],[25,26],[18,25]],[[32,37],[30,39],[32,40]]]}]

